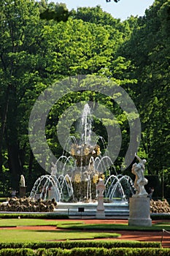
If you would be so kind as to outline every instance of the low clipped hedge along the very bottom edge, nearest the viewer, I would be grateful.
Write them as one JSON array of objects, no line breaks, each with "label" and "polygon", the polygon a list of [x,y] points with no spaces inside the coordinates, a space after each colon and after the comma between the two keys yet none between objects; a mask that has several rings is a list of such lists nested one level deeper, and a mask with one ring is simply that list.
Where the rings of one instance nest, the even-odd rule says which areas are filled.
[{"label": "low clipped hedge along the very bottom edge, nearest the viewer", "polygon": [[170,249],[159,248],[73,248],[1,249],[0,256],[170,256]]}]

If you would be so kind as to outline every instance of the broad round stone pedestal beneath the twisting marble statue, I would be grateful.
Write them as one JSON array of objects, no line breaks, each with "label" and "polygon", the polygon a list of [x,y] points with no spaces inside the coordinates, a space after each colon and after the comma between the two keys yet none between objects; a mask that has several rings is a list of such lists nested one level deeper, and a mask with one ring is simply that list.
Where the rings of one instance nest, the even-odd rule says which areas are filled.
[{"label": "broad round stone pedestal beneath the twisting marble statue", "polygon": [[131,197],[129,200],[129,226],[151,227],[150,198]]}]

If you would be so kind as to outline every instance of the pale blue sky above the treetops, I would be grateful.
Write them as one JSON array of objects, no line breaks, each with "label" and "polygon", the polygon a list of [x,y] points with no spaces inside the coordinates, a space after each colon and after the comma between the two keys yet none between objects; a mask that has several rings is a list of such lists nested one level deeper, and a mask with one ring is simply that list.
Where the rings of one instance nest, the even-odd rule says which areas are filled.
[{"label": "pale blue sky above the treetops", "polygon": [[125,20],[131,15],[143,16],[144,11],[152,5],[154,0],[120,0],[115,3],[114,0],[106,2],[106,0],[50,0],[54,2],[65,3],[69,10],[75,9],[77,7],[95,7],[100,5],[101,8],[111,13],[114,18],[120,18]]}]

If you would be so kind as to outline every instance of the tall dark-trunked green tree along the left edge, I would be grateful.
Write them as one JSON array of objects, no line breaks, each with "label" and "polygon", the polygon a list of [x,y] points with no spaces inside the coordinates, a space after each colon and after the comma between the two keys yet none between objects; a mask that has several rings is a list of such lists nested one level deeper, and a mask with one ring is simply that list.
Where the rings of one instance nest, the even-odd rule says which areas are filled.
[{"label": "tall dark-trunked green tree along the left edge", "polygon": [[0,175],[7,154],[11,186],[17,189],[26,157],[30,103],[44,87],[38,76],[41,63],[37,54],[42,24],[39,6],[33,1],[3,0],[0,6]]}]

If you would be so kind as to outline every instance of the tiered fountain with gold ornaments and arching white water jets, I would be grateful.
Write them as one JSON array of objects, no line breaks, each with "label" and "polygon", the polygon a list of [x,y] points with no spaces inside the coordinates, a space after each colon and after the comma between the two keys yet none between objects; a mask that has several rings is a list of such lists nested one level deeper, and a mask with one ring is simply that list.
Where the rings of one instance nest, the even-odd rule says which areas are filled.
[{"label": "tiered fountain with gold ornaments and arching white water jets", "polygon": [[90,107],[85,104],[80,121],[80,139],[69,136],[63,155],[52,163],[50,175],[41,176],[34,183],[31,198],[55,198],[58,205],[95,204],[97,184],[103,179],[106,187],[104,202],[128,205],[128,198],[134,194],[133,181],[129,176],[117,175],[109,156],[105,154],[102,157],[101,151],[105,151],[106,143],[104,138],[92,132],[92,121]]}]

